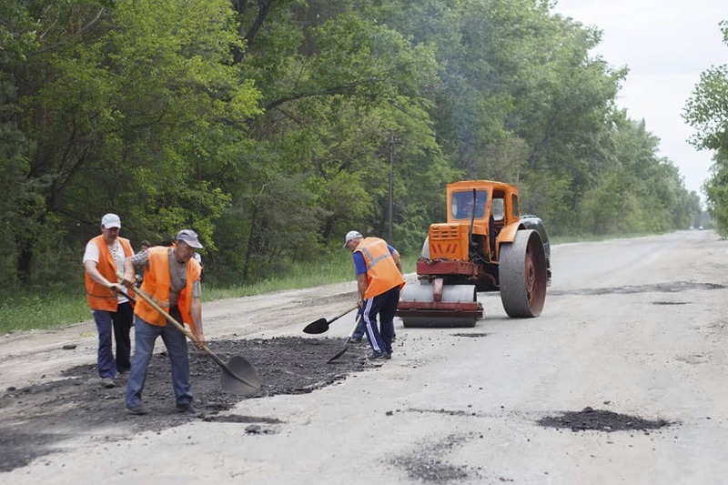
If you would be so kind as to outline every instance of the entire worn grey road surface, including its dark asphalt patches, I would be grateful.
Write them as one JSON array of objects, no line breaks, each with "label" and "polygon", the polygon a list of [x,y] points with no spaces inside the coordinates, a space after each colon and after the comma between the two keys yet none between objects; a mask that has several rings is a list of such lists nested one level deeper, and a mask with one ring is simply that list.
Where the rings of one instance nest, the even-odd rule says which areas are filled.
[{"label": "entire worn grey road surface, including its dark asphalt patches", "polygon": [[[177,413],[164,346],[150,413],[97,382],[93,324],[0,340],[4,483],[721,483],[728,474],[728,243],[683,231],[552,248],[539,318],[480,294],[475,328],[402,328],[391,360],[337,354],[353,282],[206,303],[210,349],[263,388],[220,388],[190,346]],[[680,268],[679,271],[676,268]],[[417,284],[410,276],[409,284]]]}]

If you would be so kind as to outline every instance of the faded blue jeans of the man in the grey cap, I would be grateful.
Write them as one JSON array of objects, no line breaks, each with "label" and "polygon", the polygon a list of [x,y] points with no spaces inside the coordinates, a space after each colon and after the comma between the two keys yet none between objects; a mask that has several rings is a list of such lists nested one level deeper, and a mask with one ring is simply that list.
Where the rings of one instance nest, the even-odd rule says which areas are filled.
[{"label": "faded blue jeans of the man in the grey cap", "polygon": [[[177,321],[182,320],[179,317],[179,310],[177,308],[170,308],[169,313],[177,318]],[[187,338],[185,334],[171,324],[167,324],[164,327],[151,325],[136,316],[134,356],[131,359],[129,382],[126,384],[127,408],[135,408],[142,403],[142,390],[144,389],[144,382],[147,380],[149,360],[152,359],[154,344],[160,335],[167,347],[169,361],[172,364],[172,388],[175,390],[177,405],[185,405],[192,402],[192,390],[189,385]]]}]

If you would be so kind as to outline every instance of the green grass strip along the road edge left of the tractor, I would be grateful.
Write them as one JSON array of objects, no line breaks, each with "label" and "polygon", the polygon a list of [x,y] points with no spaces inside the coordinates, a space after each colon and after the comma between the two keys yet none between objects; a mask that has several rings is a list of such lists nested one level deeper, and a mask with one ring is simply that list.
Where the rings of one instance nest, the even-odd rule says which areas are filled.
[{"label": "green grass strip along the road edge left of the tractor", "polygon": [[[405,272],[415,268],[417,255],[403,258]],[[351,257],[342,251],[337,258],[323,262],[299,262],[290,266],[285,275],[268,278],[251,284],[217,286],[203,282],[203,301],[224,298],[240,298],[284,289],[311,288],[354,279]],[[86,304],[83,283],[73,290],[36,290],[30,295],[12,295],[0,303],[0,332],[27,331],[32,329],[59,328],[90,320],[91,309]],[[203,317],[204,318],[204,317]]]}]

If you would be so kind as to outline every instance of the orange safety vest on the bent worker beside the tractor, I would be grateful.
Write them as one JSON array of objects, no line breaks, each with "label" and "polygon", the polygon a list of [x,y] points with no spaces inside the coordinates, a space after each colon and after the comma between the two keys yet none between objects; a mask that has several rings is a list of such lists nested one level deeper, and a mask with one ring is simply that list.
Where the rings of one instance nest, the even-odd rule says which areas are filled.
[{"label": "orange safety vest on the bent worker beside the tractor", "polygon": [[391,288],[404,286],[404,277],[389,253],[387,241],[379,237],[365,237],[354,252],[361,253],[367,264],[367,289],[364,298],[374,298]]}]

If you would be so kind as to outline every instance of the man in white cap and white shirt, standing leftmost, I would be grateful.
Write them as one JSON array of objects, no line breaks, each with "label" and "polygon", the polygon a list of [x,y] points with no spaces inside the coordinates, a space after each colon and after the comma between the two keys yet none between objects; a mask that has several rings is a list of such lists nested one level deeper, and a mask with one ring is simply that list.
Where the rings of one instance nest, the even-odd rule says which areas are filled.
[{"label": "man in white cap and white shirt, standing leftmost", "polygon": [[[124,260],[131,256],[131,243],[119,237],[121,219],[116,214],[101,218],[101,235],[86,243],[84,268],[86,269],[86,300],[93,310],[98,331],[98,375],[106,388],[116,387],[115,378],[129,370],[132,326],[132,308],[129,300],[116,292],[116,271],[124,268]],[[116,340],[116,359],[112,349],[111,333]]]}]

